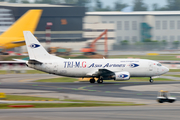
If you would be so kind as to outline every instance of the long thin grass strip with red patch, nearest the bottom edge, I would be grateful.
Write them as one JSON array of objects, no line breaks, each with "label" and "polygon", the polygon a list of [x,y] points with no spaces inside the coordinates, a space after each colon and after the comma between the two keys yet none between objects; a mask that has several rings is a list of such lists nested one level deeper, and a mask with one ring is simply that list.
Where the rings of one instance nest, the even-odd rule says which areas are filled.
[{"label": "long thin grass strip with red patch, nearest the bottom edge", "polygon": [[134,103],[17,103],[0,104],[0,109],[17,109],[8,107],[8,105],[34,105],[34,108],[59,108],[59,107],[97,107],[97,106],[139,106],[145,104]]}]

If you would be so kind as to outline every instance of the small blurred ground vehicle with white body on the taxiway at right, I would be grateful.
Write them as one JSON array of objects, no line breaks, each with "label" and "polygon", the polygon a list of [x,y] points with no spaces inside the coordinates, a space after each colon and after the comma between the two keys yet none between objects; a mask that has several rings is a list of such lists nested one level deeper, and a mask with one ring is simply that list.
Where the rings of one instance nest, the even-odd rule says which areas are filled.
[{"label": "small blurred ground vehicle with white body on the taxiway at right", "polygon": [[176,98],[175,97],[171,97],[170,93],[168,91],[160,90],[158,92],[157,101],[159,103],[163,103],[163,102],[173,103],[173,102],[176,101]]}]

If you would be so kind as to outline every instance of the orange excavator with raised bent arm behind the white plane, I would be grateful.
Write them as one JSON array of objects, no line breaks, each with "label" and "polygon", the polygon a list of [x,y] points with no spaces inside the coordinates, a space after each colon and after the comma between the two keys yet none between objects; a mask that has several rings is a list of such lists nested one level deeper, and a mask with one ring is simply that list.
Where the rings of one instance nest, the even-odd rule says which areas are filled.
[{"label": "orange excavator with raised bent arm behind the white plane", "polygon": [[105,35],[105,41],[104,41],[104,52],[105,55],[107,55],[107,32],[108,30],[105,30],[99,37],[97,37],[92,43],[88,44],[87,47],[82,48],[81,52],[84,53],[84,55],[95,55],[96,54],[96,48],[95,48],[95,43],[102,38],[103,35]]}]

